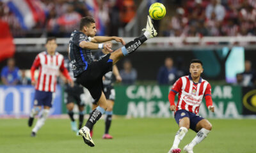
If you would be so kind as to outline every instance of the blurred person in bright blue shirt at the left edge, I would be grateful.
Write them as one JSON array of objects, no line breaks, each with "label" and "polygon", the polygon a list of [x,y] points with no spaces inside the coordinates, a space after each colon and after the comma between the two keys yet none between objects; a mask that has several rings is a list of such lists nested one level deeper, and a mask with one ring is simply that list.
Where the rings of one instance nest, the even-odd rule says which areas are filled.
[{"label": "blurred person in bright blue shirt at the left edge", "polygon": [[4,85],[17,85],[19,82],[19,68],[15,67],[13,58],[8,59],[7,66],[1,71],[1,80]]}]

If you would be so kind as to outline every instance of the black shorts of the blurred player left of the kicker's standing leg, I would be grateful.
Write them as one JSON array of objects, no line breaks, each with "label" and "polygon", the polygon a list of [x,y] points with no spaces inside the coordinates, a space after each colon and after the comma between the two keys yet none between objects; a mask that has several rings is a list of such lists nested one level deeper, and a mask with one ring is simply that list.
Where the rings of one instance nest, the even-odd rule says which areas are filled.
[{"label": "black shorts of the blurred player left of the kicker's standing leg", "polygon": [[64,103],[76,103],[78,106],[84,106],[81,96],[84,93],[83,87],[75,85],[74,87],[68,87],[64,92]]}]

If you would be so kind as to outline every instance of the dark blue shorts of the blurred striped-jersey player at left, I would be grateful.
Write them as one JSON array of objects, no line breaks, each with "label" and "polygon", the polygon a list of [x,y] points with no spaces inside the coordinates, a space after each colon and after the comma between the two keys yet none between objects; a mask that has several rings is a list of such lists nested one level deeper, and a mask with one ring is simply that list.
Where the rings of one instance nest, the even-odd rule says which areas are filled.
[{"label": "dark blue shorts of the blurred striped-jersey player at left", "polygon": [[49,106],[52,107],[53,103],[53,93],[52,92],[46,92],[46,91],[38,91],[35,92],[35,98],[34,98],[34,106]]}]

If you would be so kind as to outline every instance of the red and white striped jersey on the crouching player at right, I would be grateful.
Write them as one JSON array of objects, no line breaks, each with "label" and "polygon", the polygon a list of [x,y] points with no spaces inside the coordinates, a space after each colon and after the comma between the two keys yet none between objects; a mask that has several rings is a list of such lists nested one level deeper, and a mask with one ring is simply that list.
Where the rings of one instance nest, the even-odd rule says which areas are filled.
[{"label": "red and white striped jersey on the crouching player at right", "polygon": [[180,77],[173,84],[172,91],[176,94],[179,93],[176,111],[187,110],[198,114],[204,96],[211,96],[211,85],[201,77],[196,84],[191,76],[188,75]]}]

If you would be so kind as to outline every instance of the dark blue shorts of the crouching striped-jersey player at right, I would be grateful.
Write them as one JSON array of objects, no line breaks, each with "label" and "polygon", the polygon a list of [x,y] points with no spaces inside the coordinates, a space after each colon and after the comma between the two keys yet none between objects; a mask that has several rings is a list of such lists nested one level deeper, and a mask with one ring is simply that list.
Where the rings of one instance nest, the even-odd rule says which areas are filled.
[{"label": "dark blue shorts of the crouching striped-jersey player at right", "polygon": [[195,131],[197,133],[198,131],[196,131],[196,124],[204,118],[200,117],[199,115],[196,115],[195,113],[188,112],[187,110],[178,110],[177,112],[175,112],[174,118],[175,118],[177,124],[179,124],[180,119],[182,119],[184,117],[189,118],[189,120],[190,120],[189,128],[193,129],[193,131]]}]

